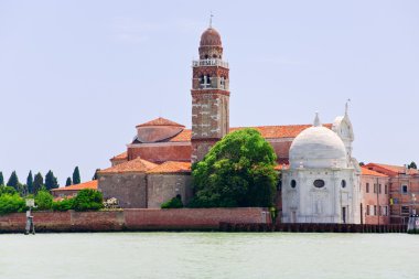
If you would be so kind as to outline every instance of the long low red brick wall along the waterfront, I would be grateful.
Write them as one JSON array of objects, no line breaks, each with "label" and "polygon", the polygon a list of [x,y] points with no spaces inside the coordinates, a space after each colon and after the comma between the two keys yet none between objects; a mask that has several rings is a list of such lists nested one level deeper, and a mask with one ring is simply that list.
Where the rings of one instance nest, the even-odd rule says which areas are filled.
[{"label": "long low red brick wall along the waterfront", "polygon": [[[217,230],[222,222],[270,223],[260,207],[34,212],[36,232]],[[25,213],[0,216],[0,233],[23,233]]]}]

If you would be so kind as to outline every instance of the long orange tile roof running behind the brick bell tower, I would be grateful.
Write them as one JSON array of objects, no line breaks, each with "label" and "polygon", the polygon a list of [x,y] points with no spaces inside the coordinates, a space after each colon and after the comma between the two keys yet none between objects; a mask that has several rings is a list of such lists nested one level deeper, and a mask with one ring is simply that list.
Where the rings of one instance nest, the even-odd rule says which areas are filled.
[{"label": "long orange tile roof running behind the brick bell tower", "polygon": [[[323,125],[324,127],[332,129],[331,124]],[[254,128],[260,132],[260,135],[266,139],[279,139],[279,138],[296,138],[300,132],[307,128],[312,127],[312,125],[288,125],[288,126],[257,126],[257,127],[235,127],[230,128],[229,131],[237,131],[245,128]],[[171,142],[179,141],[191,141],[191,130],[184,129],[178,136],[172,138]]]}]

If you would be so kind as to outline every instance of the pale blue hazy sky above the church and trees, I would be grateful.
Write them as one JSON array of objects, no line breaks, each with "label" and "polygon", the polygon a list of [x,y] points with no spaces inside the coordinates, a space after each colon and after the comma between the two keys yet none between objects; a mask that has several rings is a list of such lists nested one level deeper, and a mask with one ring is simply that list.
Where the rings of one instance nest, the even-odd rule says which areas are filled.
[{"label": "pale blue hazy sky above the church and trees", "polygon": [[419,161],[419,1],[0,0],[0,171],[82,181],[136,125],[191,127],[191,63],[221,33],[230,126],[332,122],[358,161]]}]

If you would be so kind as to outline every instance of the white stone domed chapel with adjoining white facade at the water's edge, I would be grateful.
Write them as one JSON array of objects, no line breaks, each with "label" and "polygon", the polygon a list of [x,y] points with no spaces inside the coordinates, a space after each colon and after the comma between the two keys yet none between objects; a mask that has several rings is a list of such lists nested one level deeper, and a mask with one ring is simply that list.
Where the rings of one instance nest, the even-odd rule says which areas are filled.
[{"label": "white stone domed chapel with adjoining white facade at the water's edge", "polygon": [[319,116],[290,148],[282,171],[282,223],[361,224],[361,169],[352,158],[354,133],[347,115],[332,129]]}]

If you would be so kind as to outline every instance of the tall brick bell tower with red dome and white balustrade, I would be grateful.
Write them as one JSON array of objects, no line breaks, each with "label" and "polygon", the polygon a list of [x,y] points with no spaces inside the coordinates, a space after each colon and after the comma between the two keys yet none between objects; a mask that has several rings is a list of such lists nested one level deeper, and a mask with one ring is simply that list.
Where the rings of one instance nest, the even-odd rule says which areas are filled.
[{"label": "tall brick bell tower with red dome and white balustrade", "polygon": [[228,63],[223,61],[219,33],[212,28],[201,35],[200,60],[193,61],[192,158],[201,161],[229,130]]}]

